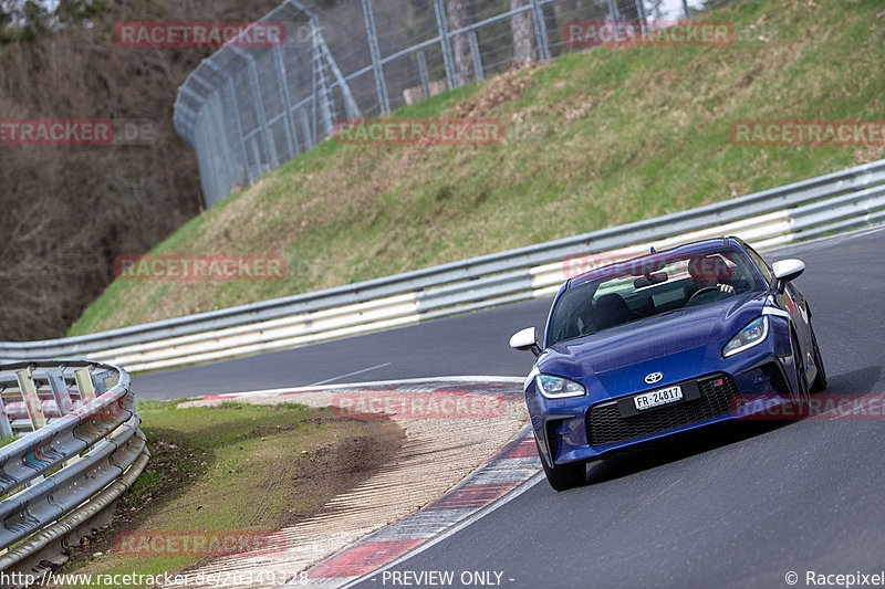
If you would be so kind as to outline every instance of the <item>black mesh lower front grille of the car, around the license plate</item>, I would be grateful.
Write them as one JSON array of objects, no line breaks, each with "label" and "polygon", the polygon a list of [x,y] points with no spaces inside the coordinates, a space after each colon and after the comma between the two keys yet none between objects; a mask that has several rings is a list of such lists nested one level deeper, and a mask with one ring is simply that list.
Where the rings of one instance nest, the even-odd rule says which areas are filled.
[{"label": "black mesh lower front grille of the car, around the license plate", "polygon": [[[721,385],[717,386],[719,380]],[[722,416],[739,395],[735,379],[725,374],[704,377],[698,380],[698,388],[699,399],[647,409],[627,418],[621,417],[616,401],[591,407],[586,418],[590,445],[633,440]]]}]

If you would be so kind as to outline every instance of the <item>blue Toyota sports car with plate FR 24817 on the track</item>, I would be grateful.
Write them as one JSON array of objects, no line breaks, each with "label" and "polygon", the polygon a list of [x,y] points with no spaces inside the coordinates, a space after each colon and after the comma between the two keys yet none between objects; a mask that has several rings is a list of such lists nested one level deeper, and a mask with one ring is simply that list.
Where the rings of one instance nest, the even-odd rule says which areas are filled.
[{"label": "blue Toyota sports car with plate FR 24817 on the track", "polygon": [[525,402],[551,486],[583,484],[587,462],[617,451],[826,388],[811,308],[793,284],[804,269],[769,266],[731,236],[563,284],[543,343],[533,327],[510,339],[538,357]]}]

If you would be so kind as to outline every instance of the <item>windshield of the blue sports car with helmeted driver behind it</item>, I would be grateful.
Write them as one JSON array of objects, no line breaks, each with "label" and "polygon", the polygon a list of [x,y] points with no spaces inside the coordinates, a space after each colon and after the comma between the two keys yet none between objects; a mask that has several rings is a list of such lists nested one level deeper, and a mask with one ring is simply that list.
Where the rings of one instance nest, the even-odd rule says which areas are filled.
[{"label": "windshield of the blue sports car with helmeted driver behind it", "polygon": [[764,290],[749,261],[722,249],[666,259],[637,259],[568,290],[556,303],[548,346],[664,313]]}]

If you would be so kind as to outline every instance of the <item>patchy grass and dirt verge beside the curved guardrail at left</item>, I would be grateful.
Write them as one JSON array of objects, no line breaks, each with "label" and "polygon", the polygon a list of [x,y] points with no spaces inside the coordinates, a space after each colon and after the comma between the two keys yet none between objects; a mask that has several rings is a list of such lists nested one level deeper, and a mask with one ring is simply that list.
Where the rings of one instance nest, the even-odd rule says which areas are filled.
[{"label": "patchy grass and dirt verge beside the curved guardrail at left", "polygon": [[115,537],[267,535],[311,516],[365,480],[393,457],[403,438],[391,421],[341,419],[330,409],[240,403],[176,409],[177,403],[138,403],[150,463],[121,501],[112,527],[85,543],[63,574],[147,576],[186,569],[205,560],[205,553],[168,554],[159,545],[122,554]]}]

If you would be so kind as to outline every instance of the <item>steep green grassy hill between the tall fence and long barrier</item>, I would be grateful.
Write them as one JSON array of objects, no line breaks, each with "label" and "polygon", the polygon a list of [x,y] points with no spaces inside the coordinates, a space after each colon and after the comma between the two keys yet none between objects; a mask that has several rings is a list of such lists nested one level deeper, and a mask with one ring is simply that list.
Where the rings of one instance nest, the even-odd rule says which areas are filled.
[{"label": "steep green grassy hill between the tall fence and long barrier", "polygon": [[885,157],[746,147],[739,119],[885,119],[881,0],[716,11],[730,46],[601,48],[473,84],[396,117],[489,117],[492,146],[326,140],[152,253],[280,254],[273,282],[116,281],[71,334],[416,270],[656,217]]}]

